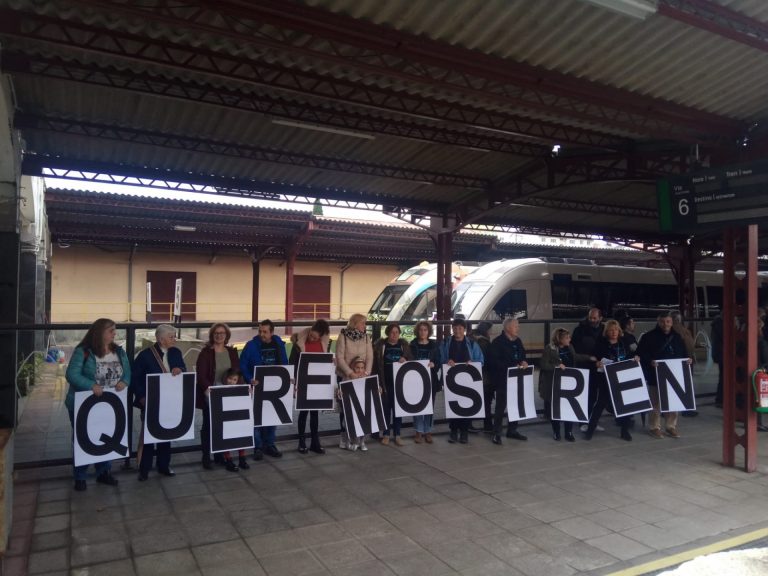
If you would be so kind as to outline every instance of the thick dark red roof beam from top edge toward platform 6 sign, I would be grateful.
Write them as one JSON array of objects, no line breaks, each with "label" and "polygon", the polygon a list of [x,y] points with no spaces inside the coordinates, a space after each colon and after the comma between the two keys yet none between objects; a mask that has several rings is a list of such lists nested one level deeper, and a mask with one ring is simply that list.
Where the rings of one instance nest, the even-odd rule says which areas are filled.
[{"label": "thick dark red roof beam from top edge toward platform 6 sign", "polygon": [[[125,0],[78,0],[114,10]],[[249,33],[252,42],[271,40],[281,54],[354,67],[366,75],[385,75],[411,83],[501,98],[515,109],[580,119],[637,134],[681,138],[684,128],[696,139],[712,134],[732,139],[740,122],[626,90],[491,55],[450,46],[302,4],[286,9],[280,0],[162,2],[139,6],[145,18],[162,17],[177,26],[211,24],[220,34]],[[291,30],[300,33],[288,33]],[[690,136],[689,136],[690,137]]]}]

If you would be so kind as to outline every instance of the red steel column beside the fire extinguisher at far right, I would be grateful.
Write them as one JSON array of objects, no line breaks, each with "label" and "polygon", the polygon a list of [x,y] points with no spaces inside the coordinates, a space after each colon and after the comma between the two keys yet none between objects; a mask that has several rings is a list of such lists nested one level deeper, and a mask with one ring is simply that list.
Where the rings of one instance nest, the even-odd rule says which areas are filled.
[{"label": "red steel column beside the fire extinguisher at far right", "polygon": [[[757,468],[757,418],[752,372],[757,368],[757,226],[723,234],[723,465],[736,466],[744,448],[745,472]],[[743,424],[743,433],[736,429]],[[741,459],[739,459],[741,461]]]}]

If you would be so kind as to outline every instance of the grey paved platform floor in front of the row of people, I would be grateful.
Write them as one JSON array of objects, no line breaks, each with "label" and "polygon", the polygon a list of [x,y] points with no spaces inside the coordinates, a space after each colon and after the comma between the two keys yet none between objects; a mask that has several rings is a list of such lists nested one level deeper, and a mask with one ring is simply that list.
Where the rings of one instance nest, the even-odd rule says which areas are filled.
[{"label": "grey paved platform floor in front of the row of people", "polygon": [[[626,443],[604,424],[575,444],[554,442],[546,424],[502,447],[442,435],[302,456],[290,442],[282,459],[238,474],[181,454],[175,478],[118,471],[118,488],[90,479],[85,493],[72,491],[68,467],[22,470],[5,572],[608,574],[768,524],[768,466],[748,475],[719,465],[713,407],[682,419],[679,440],[638,429]],[[41,449],[70,441],[68,430],[39,436]],[[17,450],[34,449],[33,437]]]}]

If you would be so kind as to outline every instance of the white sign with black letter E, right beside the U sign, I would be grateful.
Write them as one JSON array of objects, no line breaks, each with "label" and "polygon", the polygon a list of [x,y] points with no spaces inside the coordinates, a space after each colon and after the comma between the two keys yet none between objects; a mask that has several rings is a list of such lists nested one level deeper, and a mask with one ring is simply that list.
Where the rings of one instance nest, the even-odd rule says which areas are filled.
[{"label": "white sign with black letter E, right beside the U sign", "polygon": [[211,452],[253,448],[253,400],[245,385],[208,388]]}]

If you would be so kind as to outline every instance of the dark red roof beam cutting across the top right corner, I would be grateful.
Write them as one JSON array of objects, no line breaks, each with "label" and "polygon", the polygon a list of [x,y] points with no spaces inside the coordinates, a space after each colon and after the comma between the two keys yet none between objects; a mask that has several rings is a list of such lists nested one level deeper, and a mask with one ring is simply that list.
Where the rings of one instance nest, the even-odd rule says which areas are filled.
[{"label": "dark red roof beam cutting across the top right corner", "polygon": [[768,52],[768,24],[710,0],[660,0],[658,13]]}]

